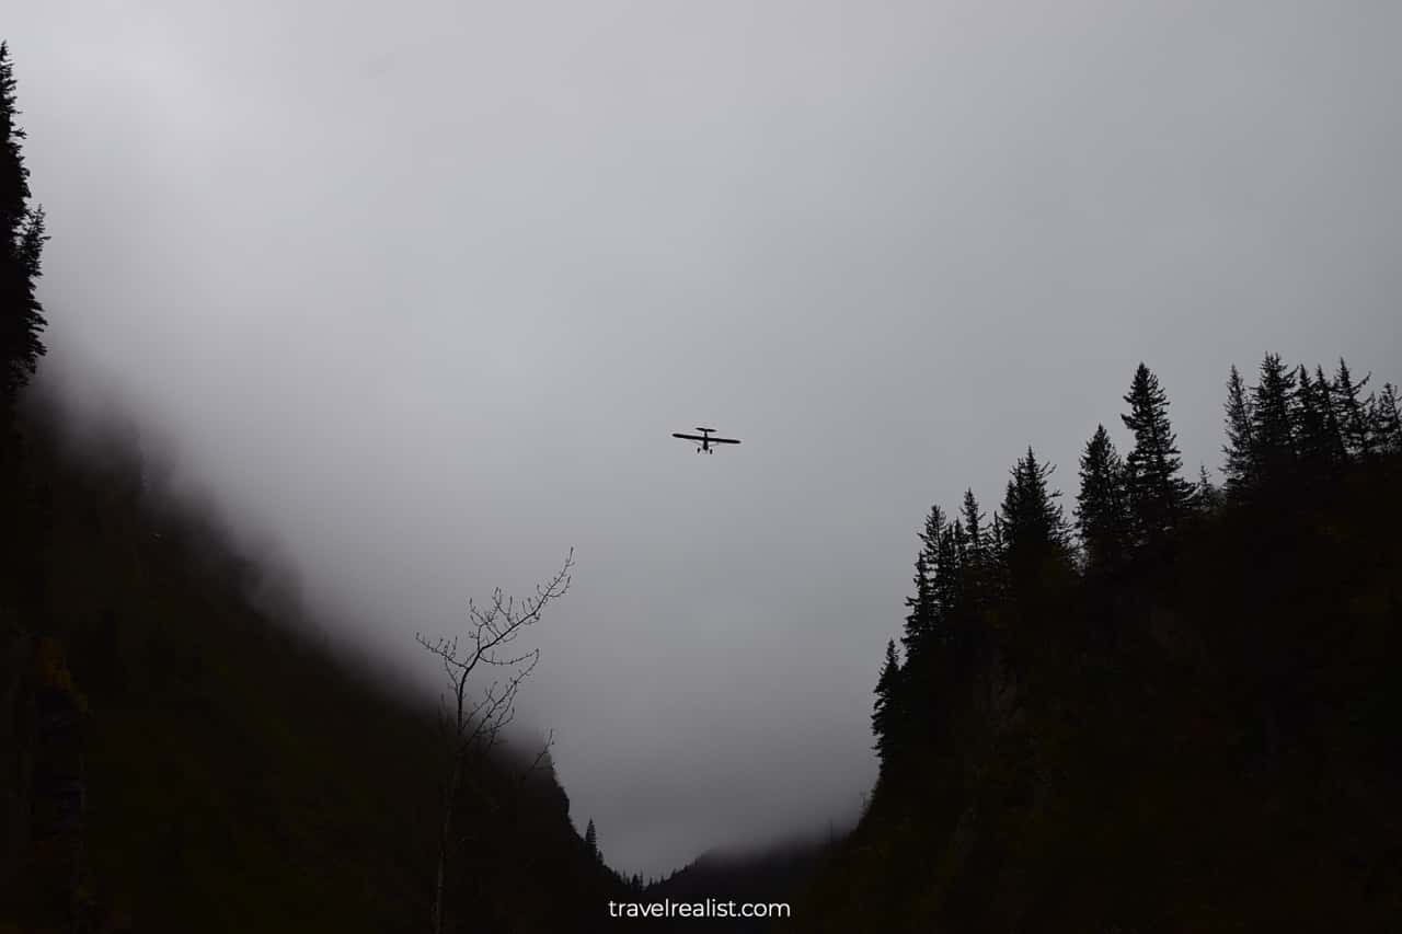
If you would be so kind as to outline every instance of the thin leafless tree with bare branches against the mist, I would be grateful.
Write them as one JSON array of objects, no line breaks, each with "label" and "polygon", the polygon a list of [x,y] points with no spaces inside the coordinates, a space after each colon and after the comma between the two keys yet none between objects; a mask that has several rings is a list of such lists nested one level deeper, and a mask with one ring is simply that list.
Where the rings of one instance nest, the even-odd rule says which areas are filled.
[{"label": "thin leafless tree with bare branches against the mist", "polygon": [[[465,637],[437,639],[429,639],[422,634],[414,637],[443,662],[451,687],[451,694],[442,697],[439,707],[439,726],[446,740],[449,763],[442,784],[443,806],[433,885],[433,934],[443,933],[447,862],[454,843],[461,836],[453,822],[463,783],[470,766],[481,762],[502,740],[502,731],[516,718],[516,693],[540,661],[538,648],[517,652],[512,649],[512,644],[522,631],[540,621],[548,603],[565,595],[573,567],[575,550],[571,548],[565,565],[547,583],[537,585],[534,596],[517,602],[496,588],[485,607],[470,600]],[[495,672],[496,676],[479,693],[470,693],[468,682],[478,670],[484,673],[479,680],[486,680],[486,672]],[[523,778],[545,759],[552,740],[552,736],[547,736]]]}]

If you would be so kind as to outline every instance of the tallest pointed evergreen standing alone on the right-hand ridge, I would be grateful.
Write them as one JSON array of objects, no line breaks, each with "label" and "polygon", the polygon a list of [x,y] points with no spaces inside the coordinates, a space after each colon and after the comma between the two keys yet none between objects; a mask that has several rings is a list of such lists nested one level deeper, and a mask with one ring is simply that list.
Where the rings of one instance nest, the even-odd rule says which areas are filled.
[{"label": "tallest pointed evergreen standing alone on the right-hand ridge", "polygon": [[1168,395],[1147,366],[1138,365],[1124,401],[1129,415],[1120,415],[1134,432],[1134,449],[1124,459],[1124,489],[1136,537],[1158,543],[1178,527],[1192,508],[1193,485],[1179,477],[1178,438],[1168,421]]}]

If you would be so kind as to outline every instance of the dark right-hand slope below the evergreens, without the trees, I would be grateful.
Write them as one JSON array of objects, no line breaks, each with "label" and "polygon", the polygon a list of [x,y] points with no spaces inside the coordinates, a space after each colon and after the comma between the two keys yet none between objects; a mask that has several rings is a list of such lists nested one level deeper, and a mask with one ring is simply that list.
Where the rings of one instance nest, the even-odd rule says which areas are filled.
[{"label": "dark right-hand slope below the evergreens, without the trees", "polygon": [[1399,478],[1218,509],[1002,617],[792,930],[1389,930]]}]

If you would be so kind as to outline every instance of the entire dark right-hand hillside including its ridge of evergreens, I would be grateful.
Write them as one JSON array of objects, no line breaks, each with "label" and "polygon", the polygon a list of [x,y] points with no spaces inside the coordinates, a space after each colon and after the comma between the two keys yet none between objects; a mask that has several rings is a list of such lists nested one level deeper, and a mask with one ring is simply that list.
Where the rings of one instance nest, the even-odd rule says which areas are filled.
[{"label": "entire dark right-hand hillside including its ridge of evergreens", "polygon": [[1143,365],[1074,524],[1033,452],[931,509],[864,819],[795,930],[1395,930],[1402,428],[1391,384],[1232,369],[1225,488]]}]

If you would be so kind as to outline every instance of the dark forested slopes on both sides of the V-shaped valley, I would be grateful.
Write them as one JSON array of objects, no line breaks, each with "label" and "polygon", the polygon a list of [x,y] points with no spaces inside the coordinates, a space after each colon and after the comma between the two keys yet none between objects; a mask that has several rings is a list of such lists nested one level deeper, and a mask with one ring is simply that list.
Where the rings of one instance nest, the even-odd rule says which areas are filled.
[{"label": "dark forested slopes on both sides of the V-shaped valley", "polygon": [[[536,658],[510,642],[569,562],[474,607],[461,641],[422,639],[457,690],[444,719],[167,482],[116,408],[73,429],[35,379],[63,231],[31,196],[17,88],[0,46],[0,934],[1402,920],[1402,418],[1381,376],[1330,348],[1232,367],[1223,412],[1186,414],[1224,422],[1216,485],[1127,360],[1105,419],[1129,450],[1102,425],[1074,477],[1028,449],[995,506],[970,489],[911,517],[858,825],[645,879],[610,868],[607,826],[571,823],[548,738],[510,729]],[[862,624],[875,656],[900,621]],[[485,693],[478,662],[508,672]],[[792,914],[610,921],[663,899]]]}]

